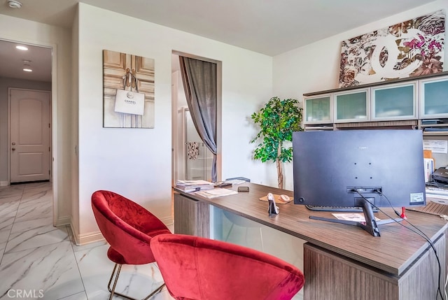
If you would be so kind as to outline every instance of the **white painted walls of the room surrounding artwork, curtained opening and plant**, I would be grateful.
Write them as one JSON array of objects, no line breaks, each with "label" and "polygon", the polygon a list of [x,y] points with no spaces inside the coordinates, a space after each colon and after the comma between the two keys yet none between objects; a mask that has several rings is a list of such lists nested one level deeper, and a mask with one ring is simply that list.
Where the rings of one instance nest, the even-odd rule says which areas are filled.
[{"label": "white painted walls of the room surrounding artwork, curtained opening and plant", "polygon": [[[275,187],[275,165],[252,159],[255,145],[249,141],[257,130],[251,113],[274,95],[302,99],[305,92],[337,87],[344,39],[447,7],[448,0],[435,1],[274,58],[84,3],[80,3],[73,31],[0,15],[0,38],[55,50],[52,135],[56,221],[71,218],[79,239],[97,232],[90,208],[94,190],[115,190],[153,210],[162,220],[171,220],[173,50],[222,62],[222,178],[245,176]],[[154,129],[102,128],[104,49],[155,59]],[[290,164],[285,169],[286,188],[292,190]]]}]

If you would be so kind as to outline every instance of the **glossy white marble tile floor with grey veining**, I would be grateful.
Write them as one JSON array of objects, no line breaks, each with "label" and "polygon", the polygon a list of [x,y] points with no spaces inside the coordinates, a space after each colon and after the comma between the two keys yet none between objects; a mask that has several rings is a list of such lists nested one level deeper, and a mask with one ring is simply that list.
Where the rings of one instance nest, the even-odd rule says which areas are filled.
[{"label": "glossy white marble tile floor with grey veining", "polygon": [[[51,183],[0,187],[0,300],[109,299],[109,245],[72,241],[68,227],[52,226]],[[142,299],[161,284],[156,264],[123,266],[117,290]],[[166,287],[151,298],[169,299]]]}]

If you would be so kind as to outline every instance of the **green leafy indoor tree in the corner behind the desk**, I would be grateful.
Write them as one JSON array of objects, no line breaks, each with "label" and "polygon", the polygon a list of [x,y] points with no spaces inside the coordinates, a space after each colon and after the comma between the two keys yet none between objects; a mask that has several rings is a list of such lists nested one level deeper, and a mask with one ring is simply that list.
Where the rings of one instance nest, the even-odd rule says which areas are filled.
[{"label": "green leafy indoor tree in the corner behind the desk", "polygon": [[286,141],[293,141],[293,131],[303,131],[302,110],[296,99],[283,99],[272,97],[258,113],[251,118],[260,126],[260,132],[252,139],[255,143],[261,142],[255,148],[254,159],[262,162],[276,162],[279,189],[283,189],[283,162],[291,162],[293,148],[284,146]]}]

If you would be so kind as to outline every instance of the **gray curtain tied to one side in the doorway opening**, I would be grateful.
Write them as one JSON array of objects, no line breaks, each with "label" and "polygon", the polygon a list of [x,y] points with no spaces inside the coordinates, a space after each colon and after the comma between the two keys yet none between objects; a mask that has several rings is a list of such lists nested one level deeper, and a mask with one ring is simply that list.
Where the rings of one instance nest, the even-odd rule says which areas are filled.
[{"label": "gray curtain tied to one side in the doorway opening", "polygon": [[216,182],[216,64],[183,56],[179,61],[193,124],[213,153],[211,181]]}]

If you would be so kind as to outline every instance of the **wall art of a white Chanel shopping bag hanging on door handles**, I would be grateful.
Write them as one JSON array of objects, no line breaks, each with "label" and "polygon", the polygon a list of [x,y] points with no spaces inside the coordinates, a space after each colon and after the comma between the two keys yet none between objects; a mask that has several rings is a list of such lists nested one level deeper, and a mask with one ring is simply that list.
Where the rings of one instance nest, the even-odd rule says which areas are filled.
[{"label": "wall art of a white Chanel shopping bag hanging on door handles", "polygon": [[103,127],[154,128],[154,59],[103,50]]}]

